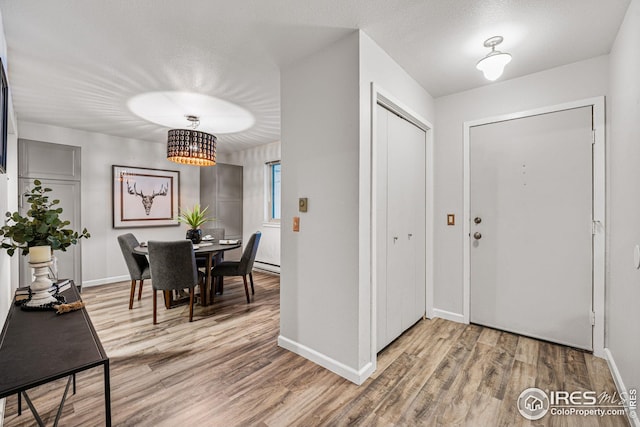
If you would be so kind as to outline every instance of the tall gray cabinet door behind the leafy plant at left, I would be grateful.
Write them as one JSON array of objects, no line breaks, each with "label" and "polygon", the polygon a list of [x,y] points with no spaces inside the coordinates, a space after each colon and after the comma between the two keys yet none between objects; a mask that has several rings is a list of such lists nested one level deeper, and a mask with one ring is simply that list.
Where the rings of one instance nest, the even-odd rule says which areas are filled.
[{"label": "tall gray cabinet door behind the leafy plant at left", "polygon": [[[22,215],[29,210],[24,197],[33,181],[42,181],[44,187],[51,188],[49,200],[60,200],[63,220],[70,221],[70,228],[81,230],[80,220],[80,147],[50,144],[40,141],[18,140],[18,207]],[[70,246],[66,252],[55,251],[58,277],[71,278],[82,283],[81,243]],[[20,257],[20,286],[31,283],[31,268],[27,257]]]}]

